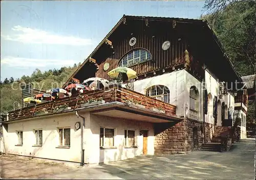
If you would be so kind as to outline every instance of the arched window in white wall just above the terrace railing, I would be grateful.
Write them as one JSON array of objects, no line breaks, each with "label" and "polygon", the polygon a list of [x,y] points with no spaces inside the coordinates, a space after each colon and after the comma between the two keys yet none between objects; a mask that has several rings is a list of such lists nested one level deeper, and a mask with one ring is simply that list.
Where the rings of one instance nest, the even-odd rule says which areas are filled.
[{"label": "arched window in white wall just above the terrace railing", "polygon": [[166,103],[170,102],[170,91],[168,87],[164,85],[154,85],[147,89],[146,96],[164,101]]}]

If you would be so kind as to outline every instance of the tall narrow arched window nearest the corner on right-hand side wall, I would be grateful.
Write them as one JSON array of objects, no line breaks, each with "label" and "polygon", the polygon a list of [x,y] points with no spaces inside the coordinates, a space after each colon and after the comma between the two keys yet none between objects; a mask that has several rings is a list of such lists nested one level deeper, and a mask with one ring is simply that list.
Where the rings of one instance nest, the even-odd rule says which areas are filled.
[{"label": "tall narrow arched window nearest the corner on right-hand side wall", "polygon": [[199,93],[196,86],[190,87],[189,91],[189,115],[197,119],[199,114]]}]

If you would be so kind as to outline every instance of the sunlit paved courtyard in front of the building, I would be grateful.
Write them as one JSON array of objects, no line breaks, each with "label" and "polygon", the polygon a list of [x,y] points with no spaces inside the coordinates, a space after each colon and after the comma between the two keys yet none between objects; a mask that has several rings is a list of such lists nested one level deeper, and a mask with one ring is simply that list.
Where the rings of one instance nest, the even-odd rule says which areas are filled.
[{"label": "sunlit paved courtyard in front of the building", "polygon": [[255,139],[234,144],[229,152],[194,151],[183,155],[133,159],[74,167],[21,156],[1,156],[2,178],[47,179],[254,179]]}]

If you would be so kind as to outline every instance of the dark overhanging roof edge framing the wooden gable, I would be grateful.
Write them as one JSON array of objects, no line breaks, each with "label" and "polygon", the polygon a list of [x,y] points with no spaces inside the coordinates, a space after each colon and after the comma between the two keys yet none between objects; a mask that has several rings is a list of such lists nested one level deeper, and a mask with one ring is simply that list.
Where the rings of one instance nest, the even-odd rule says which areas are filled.
[{"label": "dark overhanging roof edge framing the wooden gable", "polygon": [[[196,24],[200,27],[207,27],[207,35],[208,36],[212,36],[213,40],[215,41],[215,43],[217,44],[217,46],[219,47],[219,50],[222,52],[223,57],[224,57],[224,61],[222,63],[224,63],[226,66],[229,66],[230,71],[232,72],[232,76],[235,76],[235,79],[239,80],[242,82],[241,77],[239,76],[239,74],[237,73],[237,71],[234,69],[231,61],[229,60],[227,54],[224,51],[224,48],[222,47],[219,39],[217,38],[216,34],[214,33],[214,31],[212,31],[212,29],[210,28],[207,20],[202,20],[202,19],[188,19],[188,18],[175,18],[175,17],[152,17],[152,16],[129,16],[129,15],[123,15],[123,17],[117,22],[117,24],[114,26],[114,28],[102,39],[102,41],[98,44],[98,46],[94,49],[94,51],[88,56],[88,58],[86,58],[84,60],[84,62],[78,67],[78,69],[73,73],[73,75],[68,79],[68,81],[63,84],[62,87],[65,87],[67,85],[67,83],[72,79],[72,77],[74,77],[78,71],[83,67],[84,64],[86,64],[88,62],[88,60],[90,59],[90,57],[92,57],[97,51],[98,49],[102,46],[102,44],[105,42],[106,39],[108,39],[111,34],[120,26],[120,24],[123,22],[123,19],[132,19],[132,20],[144,20],[145,18],[148,18],[150,20],[153,21],[177,21],[177,22],[181,22],[183,24]],[[211,63],[215,63],[215,62],[211,62]]]}]

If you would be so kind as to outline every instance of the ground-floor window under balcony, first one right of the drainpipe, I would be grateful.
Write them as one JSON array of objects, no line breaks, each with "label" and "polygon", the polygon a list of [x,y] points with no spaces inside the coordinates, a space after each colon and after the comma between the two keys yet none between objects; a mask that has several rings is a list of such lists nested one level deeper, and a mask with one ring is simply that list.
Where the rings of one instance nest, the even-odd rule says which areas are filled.
[{"label": "ground-floor window under balcony, first one right of the drainpipe", "polygon": [[100,147],[114,146],[115,129],[100,128]]}]

